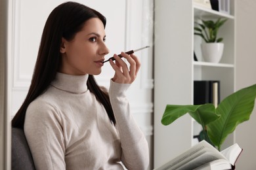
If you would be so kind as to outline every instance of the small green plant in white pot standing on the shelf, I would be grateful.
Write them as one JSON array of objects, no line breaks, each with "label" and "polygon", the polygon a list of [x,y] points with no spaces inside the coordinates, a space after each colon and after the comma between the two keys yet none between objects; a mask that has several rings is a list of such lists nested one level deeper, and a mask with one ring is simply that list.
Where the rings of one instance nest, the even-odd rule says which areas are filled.
[{"label": "small green plant in white pot standing on the shelf", "polygon": [[218,38],[219,28],[227,19],[219,18],[216,22],[213,20],[201,20],[196,22],[194,35],[202,37],[205,43],[201,44],[202,55],[205,61],[219,63],[223,55],[223,38]]}]

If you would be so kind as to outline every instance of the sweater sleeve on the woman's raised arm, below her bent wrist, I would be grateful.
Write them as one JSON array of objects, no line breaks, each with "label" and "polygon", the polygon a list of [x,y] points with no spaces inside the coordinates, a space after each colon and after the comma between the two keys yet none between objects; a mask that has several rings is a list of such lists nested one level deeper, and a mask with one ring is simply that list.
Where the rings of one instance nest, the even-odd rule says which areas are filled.
[{"label": "sweater sleeve on the woman's raised arm, below her bent wrist", "polygon": [[110,82],[110,103],[114,110],[119,131],[122,158],[127,169],[147,169],[149,165],[148,143],[130,112],[125,91],[130,84]]}]

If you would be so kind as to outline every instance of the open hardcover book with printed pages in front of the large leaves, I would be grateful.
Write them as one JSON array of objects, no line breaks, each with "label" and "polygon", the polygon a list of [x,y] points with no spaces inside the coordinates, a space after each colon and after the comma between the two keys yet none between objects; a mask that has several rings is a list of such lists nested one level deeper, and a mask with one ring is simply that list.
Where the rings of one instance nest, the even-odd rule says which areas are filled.
[{"label": "open hardcover book with printed pages in front of the large leaves", "polygon": [[233,144],[219,152],[211,144],[201,141],[155,170],[234,169],[236,160],[238,160],[241,152],[242,148],[238,144]]}]

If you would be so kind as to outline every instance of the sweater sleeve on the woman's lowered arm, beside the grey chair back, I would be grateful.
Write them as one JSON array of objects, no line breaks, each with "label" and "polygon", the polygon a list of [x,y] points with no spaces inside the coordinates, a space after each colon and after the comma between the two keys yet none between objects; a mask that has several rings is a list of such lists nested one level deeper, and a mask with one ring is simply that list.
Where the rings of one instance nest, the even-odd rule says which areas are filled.
[{"label": "sweater sleeve on the woman's lowered arm, beside the grey chair back", "polygon": [[53,106],[36,100],[30,103],[24,133],[36,169],[66,169],[61,119]]}]

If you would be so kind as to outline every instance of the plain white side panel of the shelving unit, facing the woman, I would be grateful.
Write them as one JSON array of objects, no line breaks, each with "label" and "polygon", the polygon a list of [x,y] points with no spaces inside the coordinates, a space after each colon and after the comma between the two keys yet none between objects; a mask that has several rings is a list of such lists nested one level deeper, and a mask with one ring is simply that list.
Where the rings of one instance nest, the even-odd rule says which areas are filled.
[{"label": "plain white side panel of the shelving unit, facing the woman", "polygon": [[154,167],[192,144],[192,120],[183,116],[161,124],[167,104],[192,103],[192,1],[155,1]]}]

